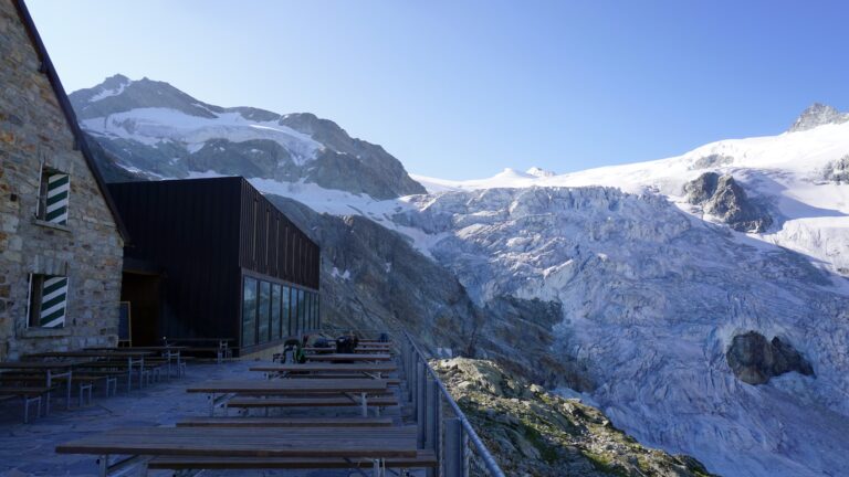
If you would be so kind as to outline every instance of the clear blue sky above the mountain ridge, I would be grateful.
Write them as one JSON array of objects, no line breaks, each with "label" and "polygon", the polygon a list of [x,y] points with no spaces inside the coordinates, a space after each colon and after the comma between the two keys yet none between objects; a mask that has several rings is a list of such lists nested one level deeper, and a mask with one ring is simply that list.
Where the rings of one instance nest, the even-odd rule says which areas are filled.
[{"label": "clear blue sky above the mountain ridge", "polygon": [[846,1],[29,0],[70,92],[311,112],[411,172],[568,172],[849,109]]}]

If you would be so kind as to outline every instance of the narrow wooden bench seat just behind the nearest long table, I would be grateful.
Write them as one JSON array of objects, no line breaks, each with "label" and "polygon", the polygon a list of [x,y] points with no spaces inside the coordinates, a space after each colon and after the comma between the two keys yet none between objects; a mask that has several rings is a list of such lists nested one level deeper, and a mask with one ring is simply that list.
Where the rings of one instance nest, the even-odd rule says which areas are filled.
[{"label": "narrow wooden bench seat just behind the nearest long table", "polygon": [[193,417],[177,427],[388,427],[391,417]]}]

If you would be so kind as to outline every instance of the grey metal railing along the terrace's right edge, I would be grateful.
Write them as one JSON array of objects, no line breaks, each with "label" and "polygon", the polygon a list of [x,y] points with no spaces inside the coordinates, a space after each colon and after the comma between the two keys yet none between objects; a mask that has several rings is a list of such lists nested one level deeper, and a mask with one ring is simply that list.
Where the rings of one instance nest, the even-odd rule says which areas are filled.
[{"label": "grey metal railing along the terrace's right edge", "polygon": [[[471,452],[476,457],[472,462],[478,463],[483,470],[474,474],[504,477],[504,473],[430,367],[416,340],[407,331],[402,331],[402,336],[400,356],[407,379],[406,398],[412,405],[419,425],[419,447],[432,449],[440,463],[437,469],[428,470],[428,477],[434,476],[437,471],[442,477],[468,477]],[[448,404],[444,412],[443,403]]]}]

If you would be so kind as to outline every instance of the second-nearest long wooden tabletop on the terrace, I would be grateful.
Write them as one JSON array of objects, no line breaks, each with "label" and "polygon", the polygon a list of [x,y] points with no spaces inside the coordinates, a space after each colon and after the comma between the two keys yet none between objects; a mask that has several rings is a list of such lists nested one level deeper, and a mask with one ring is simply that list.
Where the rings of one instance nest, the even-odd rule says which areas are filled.
[{"label": "second-nearest long wooden tabletop on the terrace", "polygon": [[310,380],[227,380],[207,381],[186,389],[187,392],[239,393],[253,395],[289,395],[313,393],[386,391],[388,382],[376,379]]}]

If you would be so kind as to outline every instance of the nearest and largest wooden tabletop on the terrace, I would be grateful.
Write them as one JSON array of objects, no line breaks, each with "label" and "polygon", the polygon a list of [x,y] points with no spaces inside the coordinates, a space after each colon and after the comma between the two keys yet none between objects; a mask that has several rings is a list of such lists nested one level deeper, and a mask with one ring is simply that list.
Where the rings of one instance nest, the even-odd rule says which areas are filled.
[{"label": "nearest and largest wooden tabletop on the terrace", "polygon": [[416,427],[134,427],[56,446],[57,454],[220,457],[415,457]]}]

